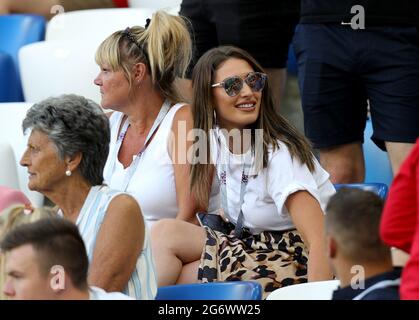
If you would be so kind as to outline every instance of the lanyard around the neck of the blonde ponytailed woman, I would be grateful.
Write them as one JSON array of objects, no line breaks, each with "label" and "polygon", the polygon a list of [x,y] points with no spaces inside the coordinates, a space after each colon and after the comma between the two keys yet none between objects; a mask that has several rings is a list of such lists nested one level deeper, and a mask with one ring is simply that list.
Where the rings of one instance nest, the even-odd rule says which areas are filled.
[{"label": "lanyard around the neck of the blonde ponytailed woman", "polygon": [[[148,147],[148,145],[150,144],[150,139],[151,137],[154,135],[154,133],[157,131],[157,129],[159,128],[161,122],[163,121],[164,117],[166,116],[166,114],[169,112],[170,109],[170,101],[166,100],[163,103],[163,106],[160,109],[159,114],[157,115],[156,120],[154,120],[153,126],[150,129],[150,132],[147,135],[147,138],[144,142],[144,146],[141,148],[141,150],[134,156],[133,161],[131,162],[131,164],[128,167],[128,171],[125,173],[124,176],[124,181],[122,183],[122,186],[120,188],[118,188],[121,191],[127,191],[128,185],[131,181],[131,178],[134,176],[134,173],[137,170],[138,164],[140,163],[140,158],[142,156],[142,154],[144,153],[144,151],[146,150],[146,148]],[[129,127],[129,123],[128,123],[128,119],[126,119],[124,121],[123,127],[121,129],[121,132],[119,133],[118,136],[118,140],[116,142],[115,148],[113,150],[112,153],[112,157],[110,158],[110,165],[109,165],[109,170],[111,172],[115,171],[115,165],[116,165],[116,161],[118,159],[118,153],[119,153],[119,149],[121,148],[122,142],[124,141],[124,137],[127,133]]]}]

